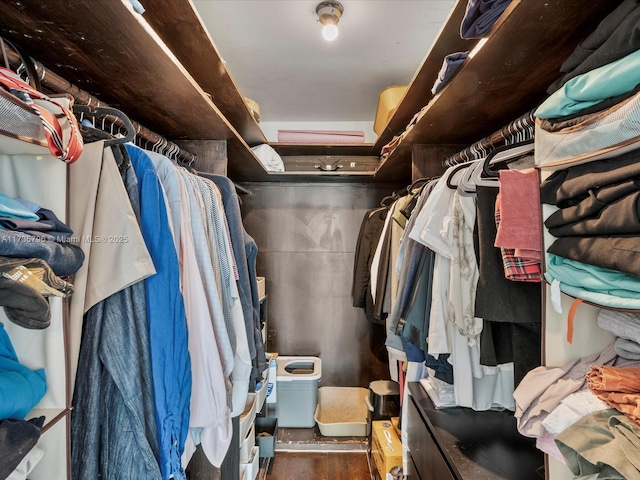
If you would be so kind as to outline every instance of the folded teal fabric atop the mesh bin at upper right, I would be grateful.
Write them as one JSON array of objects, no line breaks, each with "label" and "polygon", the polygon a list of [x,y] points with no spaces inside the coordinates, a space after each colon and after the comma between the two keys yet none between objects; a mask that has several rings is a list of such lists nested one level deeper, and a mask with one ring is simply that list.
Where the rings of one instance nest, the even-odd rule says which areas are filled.
[{"label": "folded teal fabric atop the mesh bin at upper right", "polygon": [[601,101],[631,92],[640,84],[640,50],[565,83],[540,105],[537,118],[580,113]]}]

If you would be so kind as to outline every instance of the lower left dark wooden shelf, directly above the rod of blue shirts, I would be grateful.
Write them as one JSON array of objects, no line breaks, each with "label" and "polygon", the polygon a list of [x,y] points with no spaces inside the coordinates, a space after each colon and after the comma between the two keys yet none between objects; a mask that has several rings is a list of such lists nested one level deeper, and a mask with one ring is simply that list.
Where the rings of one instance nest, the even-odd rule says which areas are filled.
[{"label": "lower left dark wooden shelf, directly above the rod of blue shirts", "polygon": [[[181,28],[180,28],[181,30]],[[168,139],[226,140],[229,172],[266,176],[225,116],[128,0],[3,2],[0,35]]]}]

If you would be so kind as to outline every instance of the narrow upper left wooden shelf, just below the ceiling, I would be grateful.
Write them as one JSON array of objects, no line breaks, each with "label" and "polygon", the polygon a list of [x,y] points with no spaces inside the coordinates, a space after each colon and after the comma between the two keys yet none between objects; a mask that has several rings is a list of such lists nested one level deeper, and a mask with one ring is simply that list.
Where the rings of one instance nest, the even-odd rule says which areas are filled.
[{"label": "narrow upper left wooden shelf, just below the ceiling", "polygon": [[[249,146],[267,143],[189,0],[145,0],[143,18]],[[176,28],[179,25],[180,28]]]}]

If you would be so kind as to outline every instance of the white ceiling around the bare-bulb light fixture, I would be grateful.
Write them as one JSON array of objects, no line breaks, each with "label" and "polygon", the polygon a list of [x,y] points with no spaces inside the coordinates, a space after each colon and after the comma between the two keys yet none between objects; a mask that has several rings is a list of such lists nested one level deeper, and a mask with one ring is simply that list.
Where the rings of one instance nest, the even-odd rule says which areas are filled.
[{"label": "white ceiling around the bare-bulb light fixture", "polygon": [[341,0],[333,42],[319,0],[193,3],[261,122],[372,122],[380,91],[411,81],[455,0]]}]

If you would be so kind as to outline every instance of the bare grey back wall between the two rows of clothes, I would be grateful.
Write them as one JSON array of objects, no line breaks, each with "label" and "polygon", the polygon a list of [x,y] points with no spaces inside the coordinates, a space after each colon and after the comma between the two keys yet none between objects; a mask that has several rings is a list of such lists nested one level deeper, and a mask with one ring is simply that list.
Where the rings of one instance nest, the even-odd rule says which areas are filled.
[{"label": "bare grey back wall between the two rows of clothes", "polygon": [[246,184],[242,212],[258,245],[268,295],[267,348],[319,356],[322,385],[388,378],[383,329],[352,306],[358,232],[390,188],[353,184]]}]

